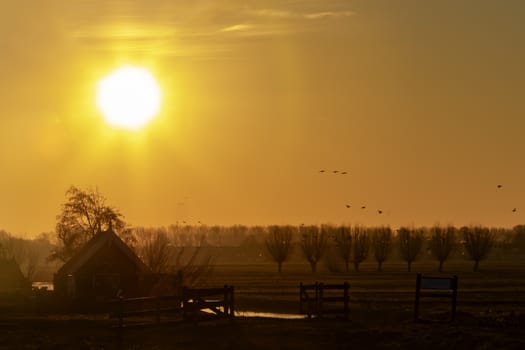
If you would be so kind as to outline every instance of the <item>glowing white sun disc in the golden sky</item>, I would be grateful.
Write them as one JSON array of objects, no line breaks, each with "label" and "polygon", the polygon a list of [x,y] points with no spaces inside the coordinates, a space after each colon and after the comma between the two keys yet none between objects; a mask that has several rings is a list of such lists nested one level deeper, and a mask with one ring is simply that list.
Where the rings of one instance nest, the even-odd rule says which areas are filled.
[{"label": "glowing white sun disc in the golden sky", "polygon": [[138,129],[159,113],[161,98],[161,89],[150,71],[124,66],[98,82],[96,105],[109,124]]}]

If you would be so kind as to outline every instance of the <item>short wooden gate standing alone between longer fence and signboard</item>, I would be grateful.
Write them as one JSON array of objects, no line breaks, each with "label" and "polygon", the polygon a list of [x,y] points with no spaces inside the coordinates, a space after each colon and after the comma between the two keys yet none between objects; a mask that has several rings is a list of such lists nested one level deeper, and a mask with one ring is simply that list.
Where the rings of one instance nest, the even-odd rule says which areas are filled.
[{"label": "short wooden gate standing alone between longer fence and signboard", "polygon": [[346,281],[343,284],[300,283],[299,312],[306,313],[308,317],[323,317],[329,314],[342,315],[347,320],[350,301],[349,289],[350,285]]}]

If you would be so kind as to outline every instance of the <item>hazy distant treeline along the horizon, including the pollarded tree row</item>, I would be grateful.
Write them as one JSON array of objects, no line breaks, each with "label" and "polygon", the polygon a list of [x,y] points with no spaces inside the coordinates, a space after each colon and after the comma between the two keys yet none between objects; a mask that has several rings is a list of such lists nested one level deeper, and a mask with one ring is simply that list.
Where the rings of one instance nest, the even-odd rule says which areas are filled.
[{"label": "hazy distant treeline along the horizon, including the pollarded tree row", "polygon": [[[318,263],[333,271],[359,271],[364,261],[377,270],[393,260],[407,263],[434,259],[438,268],[451,257],[474,263],[487,257],[522,257],[525,225],[508,228],[481,226],[384,227],[337,225],[207,226],[128,228],[128,244],[156,272],[174,267],[195,268],[214,263],[271,263],[282,271],[286,262],[304,262],[316,271]],[[0,230],[0,258],[14,258],[32,281],[50,280],[62,262],[51,260],[56,234],[18,238]],[[51,276],[51,277],[50,277]]]}]

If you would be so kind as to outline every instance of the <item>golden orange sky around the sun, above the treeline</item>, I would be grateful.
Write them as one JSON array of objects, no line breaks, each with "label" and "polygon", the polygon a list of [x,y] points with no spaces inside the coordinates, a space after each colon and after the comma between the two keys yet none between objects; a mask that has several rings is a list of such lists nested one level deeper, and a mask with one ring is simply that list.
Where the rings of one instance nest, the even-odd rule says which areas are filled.
[{"label": "golden orange sky around the sun, above the treeline", "polygon": [[[524,62],[521,0],[0,0],[0,228],[70,185],[142,226],[524,223]],[[138,131],[95,108],[124,64]]]}]

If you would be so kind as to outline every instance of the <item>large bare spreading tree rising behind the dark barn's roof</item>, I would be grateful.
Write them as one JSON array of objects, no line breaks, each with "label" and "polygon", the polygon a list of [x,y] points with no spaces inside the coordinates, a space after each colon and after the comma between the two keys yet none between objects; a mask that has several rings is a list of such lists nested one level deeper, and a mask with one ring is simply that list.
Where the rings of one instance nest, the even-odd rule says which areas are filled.
[{"label": "large bare spreading tree rising behind the dark barn's roof", "polygon": [[106,204],[98,190],[82,190],[71,186],[66,192],[66,203],[57,215],[58,248],[51,259],[69,260],[97,233],[112,229],[127,243],[132,242],[124,216]]}]

